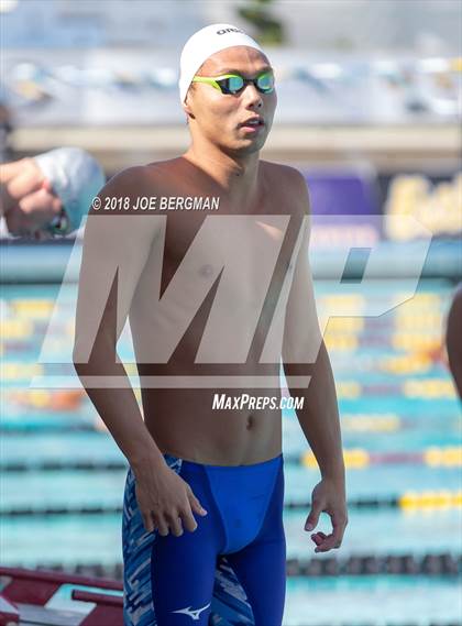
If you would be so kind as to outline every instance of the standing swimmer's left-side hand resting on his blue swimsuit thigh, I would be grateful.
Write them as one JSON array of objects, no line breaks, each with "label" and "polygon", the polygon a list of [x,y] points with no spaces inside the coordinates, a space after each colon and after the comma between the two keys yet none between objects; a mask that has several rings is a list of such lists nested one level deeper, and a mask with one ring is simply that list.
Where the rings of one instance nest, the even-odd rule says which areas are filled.
[{"label": "standing swimmer's left-side hand resting on his blue swimsuit thigh", "polygon": [[136,472],[135,495],[144,528],[157,529],[163,537],[168,531],[179,537],[183,527],[193,532],[197,528],[193,512],[207,515],[188,483],[166,463]]}]

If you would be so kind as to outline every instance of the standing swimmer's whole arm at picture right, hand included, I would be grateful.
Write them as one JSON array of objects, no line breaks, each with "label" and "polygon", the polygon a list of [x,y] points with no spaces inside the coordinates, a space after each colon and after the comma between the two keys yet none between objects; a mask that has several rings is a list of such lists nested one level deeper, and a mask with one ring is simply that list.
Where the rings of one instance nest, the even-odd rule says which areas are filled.
[{"label": "standing swimmer's whole arm at picture right, hand included", "polygon": [[[311,535],[316,552],[339,548],[348,524],[345,470],[336,384],[319,328],[312,275],[308,259],[310,207],[304,177],[297,173],[295,188],[306,216],[301,244],[288,295],[283,339],[283,365],[290,395],[304,398],[296,409],[298,421],[316,457],[322,480],[312,492],[305,529],[312,530],[321,512],[329,514],[333,532]],[[307,387],[290,385],[290,376],[311,376]]]}]

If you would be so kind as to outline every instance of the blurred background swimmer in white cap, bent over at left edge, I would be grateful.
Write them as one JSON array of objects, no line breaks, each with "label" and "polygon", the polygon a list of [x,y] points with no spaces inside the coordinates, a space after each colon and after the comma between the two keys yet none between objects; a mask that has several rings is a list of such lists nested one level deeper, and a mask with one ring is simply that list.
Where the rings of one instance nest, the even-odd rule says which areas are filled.
[{"label": "blurred background swimmer in white cap, bent over at left edge", "polygon": [[69,234],[105,180],[98,162],[79,147],[1,164],[0,237],[42,241]]}]

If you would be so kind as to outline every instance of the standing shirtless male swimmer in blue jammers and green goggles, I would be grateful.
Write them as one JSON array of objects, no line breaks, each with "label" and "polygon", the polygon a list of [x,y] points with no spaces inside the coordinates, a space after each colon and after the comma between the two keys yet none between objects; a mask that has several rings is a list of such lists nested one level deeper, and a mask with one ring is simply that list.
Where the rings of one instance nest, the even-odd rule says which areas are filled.
[{"label": "standing shirtless male swimmer in blue jammers and green goggles", "polygon": [[[120,200],[123,212],[90,211],[74,363],[130,464],[125,626],[280,626],[280,359],[321,473],[305,530],[321,512],[332,523],[328,535],[311,534],[315,552],[339,548],[348,521],[336,387],[308,263],[308,193],[297,169],[260,158],[277,97],[253,39],[231,24],[196,32],[182,53],[179,92],[188,150],[114,176],[99,199]],[[134,208],[140,198],[178,197],[218,198],[219,208]],[[117,355],[127,318],[144,420]]]}]

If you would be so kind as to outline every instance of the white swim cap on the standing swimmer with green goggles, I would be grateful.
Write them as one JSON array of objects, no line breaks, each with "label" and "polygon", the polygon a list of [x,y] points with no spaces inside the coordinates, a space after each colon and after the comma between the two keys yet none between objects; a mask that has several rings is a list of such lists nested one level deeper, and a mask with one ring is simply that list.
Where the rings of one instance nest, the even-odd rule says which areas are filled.
[{"label": "white swim cap on the standing swimmer with green goggles", "polygon": [[178,87],[182,105],[185,101],[189,85],[202,63],[216,52],[235,45],[254,47],[264,54],[255,40],[232,24],[210,24],[188,39],[179,59]]}]

